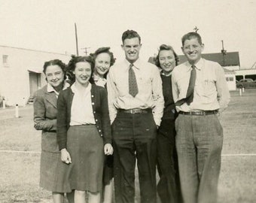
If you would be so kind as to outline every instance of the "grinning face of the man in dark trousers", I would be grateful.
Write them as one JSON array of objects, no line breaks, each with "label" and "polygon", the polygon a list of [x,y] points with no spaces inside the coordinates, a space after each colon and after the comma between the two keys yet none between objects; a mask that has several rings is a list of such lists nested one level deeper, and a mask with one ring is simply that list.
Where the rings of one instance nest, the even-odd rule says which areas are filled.
[{"label": "grinning face of the man in dark trousers", "polygon": [[122,48],[128,62],[133,63],[139,59],[139,50],[141,47],[142,44],[139,43],[139,38],[126,38],[123,41]]}]

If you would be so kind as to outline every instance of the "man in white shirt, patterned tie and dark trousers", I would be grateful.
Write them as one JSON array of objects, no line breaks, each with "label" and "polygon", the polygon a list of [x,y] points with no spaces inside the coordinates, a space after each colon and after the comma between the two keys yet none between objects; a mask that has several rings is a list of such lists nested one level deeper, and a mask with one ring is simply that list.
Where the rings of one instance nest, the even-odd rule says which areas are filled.
[{"label": "man in white shirt, patterned tie and dark trousers", "polygon": [[118,203],[134,202],[136,159],[141,202],[156,202],[156,136],[163,116],[162,81],[157,66],[139,58],[136,31],[122,35],[126,59],[108,73],[108,106],[114,144],[114,184]]}]

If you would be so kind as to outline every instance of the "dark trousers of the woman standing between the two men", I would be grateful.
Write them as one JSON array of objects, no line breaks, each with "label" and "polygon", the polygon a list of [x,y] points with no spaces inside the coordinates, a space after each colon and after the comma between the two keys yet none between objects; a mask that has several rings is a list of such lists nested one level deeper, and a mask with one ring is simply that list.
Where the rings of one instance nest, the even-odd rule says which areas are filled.
[{"label": "dark trousers of the woman standing between the two men", "polygon": [[157,192],[162,203],[181,203],[175,134],[175,120],[162,120],[157,132]]}]

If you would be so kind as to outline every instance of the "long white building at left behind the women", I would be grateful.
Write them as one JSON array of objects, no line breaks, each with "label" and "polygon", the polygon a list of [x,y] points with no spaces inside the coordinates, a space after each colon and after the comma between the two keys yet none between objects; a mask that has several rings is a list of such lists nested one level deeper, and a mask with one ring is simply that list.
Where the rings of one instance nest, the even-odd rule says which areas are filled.
[{"label": "long white building at left behind the women", "polygon": [[0,98],[5,97],[7,105],[26,105],[33,93],[46,84],[44,62],[70,59],[67,54],[7,46],[0,46],[0,57]]}]

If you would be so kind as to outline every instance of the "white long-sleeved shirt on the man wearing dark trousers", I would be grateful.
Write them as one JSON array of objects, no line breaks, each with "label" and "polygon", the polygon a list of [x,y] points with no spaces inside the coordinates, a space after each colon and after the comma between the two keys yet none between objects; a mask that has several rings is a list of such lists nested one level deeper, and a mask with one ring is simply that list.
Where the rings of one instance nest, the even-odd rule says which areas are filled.
[{"label": "white long-sleeved shirt on the man wearing dark trousers", "polygon": [[108,73],[108,108],[111,123],[117,114],[117,109],[152,108],[154,121],[159,126],[163,116],[162,80],[157,66],[137,59],[133,63],[139,93],[133,97],[129,94],[129,66],[124,60],[113,65]]}]

